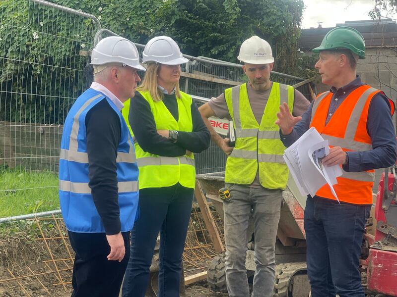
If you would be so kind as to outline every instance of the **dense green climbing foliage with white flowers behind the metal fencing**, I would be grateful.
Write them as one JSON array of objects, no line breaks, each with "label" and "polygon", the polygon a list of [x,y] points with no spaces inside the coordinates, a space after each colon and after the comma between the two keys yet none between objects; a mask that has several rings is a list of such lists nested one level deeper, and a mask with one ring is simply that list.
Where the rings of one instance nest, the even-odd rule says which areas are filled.
[{"label": "dense green climbing foliage with white flowers behind the metal fencing", "polygon": [[[53,1],[96,15],[103,28],[136,43],[171,36],[194,56],[237,62],[241,43],[258,35],[272,46],[273,70],[300,71],[303,0]],[[95,24],[28,0],[2,0],[0,14],[0,120],[62,124],[89,80],[79,51],[92,48]]]}]

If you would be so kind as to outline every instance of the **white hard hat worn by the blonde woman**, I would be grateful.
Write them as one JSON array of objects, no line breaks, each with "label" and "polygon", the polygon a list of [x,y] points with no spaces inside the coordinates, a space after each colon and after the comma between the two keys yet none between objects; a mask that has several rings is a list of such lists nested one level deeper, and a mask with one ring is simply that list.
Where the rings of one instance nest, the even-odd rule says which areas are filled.
[{"label": "white hard hat worn by the blonde woman", "polygon": [[189,60],[182,55],[177,43],[168,36],[154,37],[142,52],[142,62],[157,62],[165,65],[180,65]]}]

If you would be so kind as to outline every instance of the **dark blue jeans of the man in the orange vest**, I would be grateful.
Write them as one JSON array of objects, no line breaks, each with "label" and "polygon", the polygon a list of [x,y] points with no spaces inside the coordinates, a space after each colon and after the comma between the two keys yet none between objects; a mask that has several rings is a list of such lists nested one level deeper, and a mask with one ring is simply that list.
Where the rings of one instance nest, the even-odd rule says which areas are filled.
[{"label": "dark blue jeans of the man in the orange vest", "polygon": [[312,297],[364,297],[359,271],[371,205],[307,198],[304,226]]}]

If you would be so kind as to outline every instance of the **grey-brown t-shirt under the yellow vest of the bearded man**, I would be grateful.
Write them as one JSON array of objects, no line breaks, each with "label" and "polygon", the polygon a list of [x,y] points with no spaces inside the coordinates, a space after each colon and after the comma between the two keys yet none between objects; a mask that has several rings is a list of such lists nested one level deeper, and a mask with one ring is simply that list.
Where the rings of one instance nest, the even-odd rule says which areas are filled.
[{"label": "grey-brown t-shirt under the yellow vest of the bearded man", "polygon": [[[271,83],[271,87],[272,86],[273,83]],[[267,99],[269,99],[271,87],[265,91],[255,91],[252,88],[251,84],[249,83],[247,84],[247,93],[248,93],[248,98],[250,100],[251,109],[258,123],[261,123],[262,121],[262,116],[265,111]],[[227,104],[225,100],[225,95],[223,93],[216,98],[212,98],[211,101],[208,102],[208,104],[218,118],[221,119],[227,118],[228,120],[231,120],[229,109],[227,108]],[[294,90],[294,107],[292,110],[292,115],[301,116],[307,110],[309,105],[310,105],[309,100],[306,99],[305,96],[302,95],[302,93],[300,93],[297,90]],[[251,187],[262,188],[259,182],[258,171],[254,179],[254,182],[251,184]]]}]

